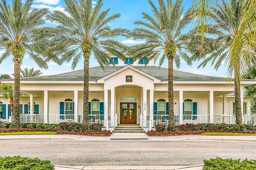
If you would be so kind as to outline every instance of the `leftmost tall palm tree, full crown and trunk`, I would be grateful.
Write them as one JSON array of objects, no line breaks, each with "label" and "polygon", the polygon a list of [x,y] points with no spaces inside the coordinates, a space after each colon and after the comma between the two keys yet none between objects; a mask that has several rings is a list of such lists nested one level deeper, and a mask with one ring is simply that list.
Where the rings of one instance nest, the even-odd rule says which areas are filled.
[{"label": "leftmost tall palm tree, full crown and trunk", "polygon": [[[19,123],[20,65],[25,53],[39,67],[48,68],[47,62],[54,55],[48,48],[50,28],[40,27],[45,23],[43,17],[49,12],[47,8],[31,9],[33,0],[13,0],[7,5],[6,0],[0,3],[0,49],[5,53],[0,57],[0,64],[10,55],[14,62],[14,124]],[[42,56],[48,56],[44,59]]]}]

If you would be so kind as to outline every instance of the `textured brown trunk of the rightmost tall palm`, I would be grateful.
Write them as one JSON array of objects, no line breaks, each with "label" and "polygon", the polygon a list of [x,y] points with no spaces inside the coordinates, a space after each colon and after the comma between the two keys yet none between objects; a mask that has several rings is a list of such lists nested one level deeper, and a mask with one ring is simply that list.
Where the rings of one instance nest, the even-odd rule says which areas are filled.
[{"label": "textured brown trunk of the rightmost tall palm", "polygon": [[240,74],[235,71],[235,108],[236,108],[236,124],[242,125],[241,111],[241,92],[240,92]]}]

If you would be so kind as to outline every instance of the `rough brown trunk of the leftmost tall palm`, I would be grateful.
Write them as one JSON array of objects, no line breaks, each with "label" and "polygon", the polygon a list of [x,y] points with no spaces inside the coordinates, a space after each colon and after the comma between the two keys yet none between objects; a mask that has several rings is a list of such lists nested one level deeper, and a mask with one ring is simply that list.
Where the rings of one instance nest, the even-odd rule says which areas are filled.
[{"label": "rough brown trunk of the leftmost tall palm", "polygon": [[16,55],[13,58],[14,61],[14,119],[13,124],[18,125],[20,119],[19,113],[19,95],[20,95],[20,65],[21,65],[21,56]]}]

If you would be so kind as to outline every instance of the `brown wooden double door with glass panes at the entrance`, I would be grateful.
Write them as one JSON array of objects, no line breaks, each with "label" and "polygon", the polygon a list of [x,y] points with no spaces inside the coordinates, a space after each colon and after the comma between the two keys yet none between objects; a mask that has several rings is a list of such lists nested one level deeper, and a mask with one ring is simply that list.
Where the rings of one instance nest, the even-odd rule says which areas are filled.
[{"label": "brown wooden double door with glass panes at the entrance", "polygon": [[136,103],[120,103],[120,124],[136,124]]}]

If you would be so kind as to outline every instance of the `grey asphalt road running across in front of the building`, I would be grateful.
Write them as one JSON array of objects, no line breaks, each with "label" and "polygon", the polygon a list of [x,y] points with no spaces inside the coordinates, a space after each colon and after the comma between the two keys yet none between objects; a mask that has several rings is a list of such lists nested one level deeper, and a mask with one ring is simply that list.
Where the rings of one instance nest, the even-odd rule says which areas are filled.
[{"label": "grey asphalt road running across in front of the building", "polygon": [[195,165],[204,159],[256,159],[256,143],[205,141],[0,141],[0,156],[55,165]]}]

